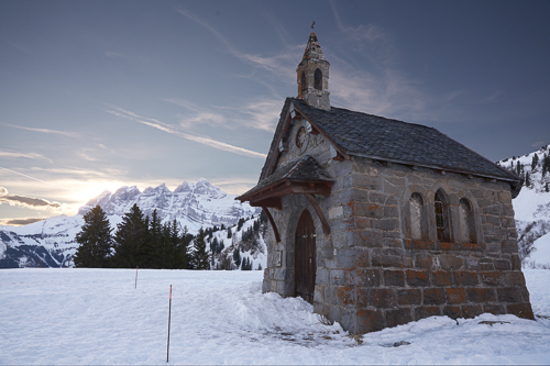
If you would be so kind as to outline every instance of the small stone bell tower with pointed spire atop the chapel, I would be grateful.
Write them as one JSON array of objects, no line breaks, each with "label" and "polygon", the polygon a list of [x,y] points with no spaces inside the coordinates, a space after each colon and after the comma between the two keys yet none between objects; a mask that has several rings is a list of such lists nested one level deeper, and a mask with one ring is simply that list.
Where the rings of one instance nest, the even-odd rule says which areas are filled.
[{"label": "small stone bell tower with pointed spire atop the chapel", "polygon": [[329,66],[317,41],[317,34],[309,33],[304,57],[296,68],[298,99],[327,111],[330,111]]}]

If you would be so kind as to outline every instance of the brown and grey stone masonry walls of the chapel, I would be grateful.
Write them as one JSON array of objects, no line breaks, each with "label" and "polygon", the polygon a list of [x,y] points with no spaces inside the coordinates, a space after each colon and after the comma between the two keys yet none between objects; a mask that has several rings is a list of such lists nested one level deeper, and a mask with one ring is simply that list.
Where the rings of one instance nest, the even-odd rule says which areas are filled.
[{"label": "brown and grey stone masonry walls of the chapel", "polygon": [[[302,195],[284,197],[282,210],[270,209],[282,241],[276,243],[270,232],[264,291],[295,296],[294,234],[299,215],[308,209],[317,230],[315,312],[351,333],[431,315],[457,319],[491,312],[534,319],[508,184],[361,157],[337,162],[327,141],[320,135],[309,138],[302,149],[290,144],[282,162],[307,152],[334,177],[331,196],[316,197],[331,234],[322,233]],[[449,203],[449,243],[437,241],[438,190]],[[411,234],[413,193],[422,197],[420,239]],[[472,206],[473,243],[461,235],[461,199]]]}]

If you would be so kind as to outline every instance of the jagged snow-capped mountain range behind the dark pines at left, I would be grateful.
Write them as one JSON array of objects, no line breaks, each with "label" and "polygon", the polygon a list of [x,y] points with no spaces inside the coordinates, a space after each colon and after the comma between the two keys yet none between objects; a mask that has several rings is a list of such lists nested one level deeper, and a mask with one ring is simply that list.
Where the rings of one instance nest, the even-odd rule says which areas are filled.
[{"label": "jagged snow-capped mountain range behind the dark pines at left", "polygon": [[122,187],[114,193],[105,191],[82,206],[74,217],[53,217],[24,226],[0,226],[0,268],[64,267],[70,265],[78,243],[75,236],[84,224],[84,214],[97,204],[107,212],[112,229],[136,203],[145,215],[156,209],[162,222],[178,222],[196,234],[208,226],[230,226],[240,218],[260,212],[248,203],[234,200],[208,180],[184,181],[173,192],[164,185],[146,188]]}]

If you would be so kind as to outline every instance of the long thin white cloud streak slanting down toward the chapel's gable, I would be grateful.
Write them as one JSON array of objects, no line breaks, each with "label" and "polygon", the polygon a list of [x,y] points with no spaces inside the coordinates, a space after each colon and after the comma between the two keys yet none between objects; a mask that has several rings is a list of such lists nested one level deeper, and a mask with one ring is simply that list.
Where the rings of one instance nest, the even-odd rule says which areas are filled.
[{"label": "long thin white cloud streak slanting down toward the chapel's gable", "polygon": [[256,153],[256,152],[253,152],[251,149],[246,149],[246,148],[239,147],[239,146],[233,146],[233,145],[210,138],[208,136],[197,136],[197,135],[191,135],[189,133],[184,133],[182,131],[178,131],[178,126],[175,126],[173,124],[164,123],[164,122],[161,122],[158,120],[150,119],[146,117],[141,117],[141,115],[135,114],[131,111],[123,110],[122,108],[119,108],[119,107],[116,107],[112,104],[108,104],[108,106],[110,106],[113,109],[113,110],[107,110],[106,112],[108,112],[108,113],[124,118],[124,119],[130,120],[130,121],[139,122],[142,124],[148,125],[151,127],[155,127],[157,130],[164,131],[166,133],[173,134],[173,135],[182,137],[182,138],[195,141],[199,144],[204,144],[204,145],[207,145],[207,146],[210,146],[213,148],[218,148],[218,149],[221,149],[224,152],[230,152],[230,153],[239,154],[239,155],[243,155],[243,156],[255,157],[255,158],[265,158],[266,157],[266,155],[262,154],[262,153]]}]

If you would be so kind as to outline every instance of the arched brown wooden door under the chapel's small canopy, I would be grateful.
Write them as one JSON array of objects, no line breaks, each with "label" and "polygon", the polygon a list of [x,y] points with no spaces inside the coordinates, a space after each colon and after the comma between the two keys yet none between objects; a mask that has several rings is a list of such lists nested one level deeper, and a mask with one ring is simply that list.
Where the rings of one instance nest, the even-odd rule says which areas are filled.
[{"label": "arched brown wooden door under the chapel's small canopy", "polygon": [[314,303],[315,275],[317,271],[316,234],[314,219],[308,210],[304,210],[296,228],[294,249],[295,290],[296,296]]}]

